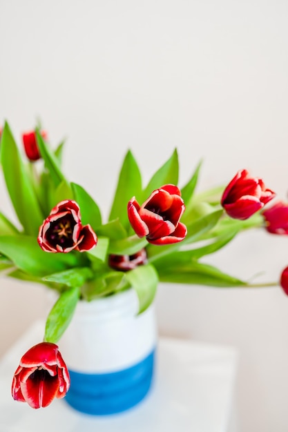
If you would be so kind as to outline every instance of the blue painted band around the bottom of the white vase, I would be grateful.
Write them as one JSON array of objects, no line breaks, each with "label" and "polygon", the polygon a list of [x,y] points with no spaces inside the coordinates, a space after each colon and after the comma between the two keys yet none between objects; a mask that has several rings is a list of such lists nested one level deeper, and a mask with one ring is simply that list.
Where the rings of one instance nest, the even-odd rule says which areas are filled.
[{"label": "blue painted band around the bottom of the white vase", "polygon": [[112,373],[70,371],[71,386],[66,402],[77,411],[108,415],[126,411],[148,393],[153,377],[155,350],[141,362]]}]

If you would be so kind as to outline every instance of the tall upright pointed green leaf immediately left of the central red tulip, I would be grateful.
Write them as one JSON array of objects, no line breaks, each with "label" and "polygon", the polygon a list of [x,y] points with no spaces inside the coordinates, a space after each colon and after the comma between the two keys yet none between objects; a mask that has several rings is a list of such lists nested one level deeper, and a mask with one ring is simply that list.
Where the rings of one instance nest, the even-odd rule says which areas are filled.
[{"label": "tall upright pointed green leaf immediately left of the central red tulip", "polygon": [[109,221],[119,219],[124,228],[130,228],[127,214],[127,204],[133,197],[139,197],[142,192],[141,173],[131,150],[128,151],[119,174],[118,184],[109,216]]}]

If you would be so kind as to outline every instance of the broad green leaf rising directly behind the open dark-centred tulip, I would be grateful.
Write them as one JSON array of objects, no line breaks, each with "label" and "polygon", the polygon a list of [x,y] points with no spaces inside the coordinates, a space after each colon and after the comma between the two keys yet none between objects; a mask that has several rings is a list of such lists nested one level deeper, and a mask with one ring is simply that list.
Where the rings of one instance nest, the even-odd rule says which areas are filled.
[{"label": "broad green leaf rising directly behind the open dark-centred tulip", "polygon": [[101,225],[101,213],[94,199],[79,184],[71,183],[73,196],[80,207],[81,222],[83,225],[90,224],[93,230]]}]

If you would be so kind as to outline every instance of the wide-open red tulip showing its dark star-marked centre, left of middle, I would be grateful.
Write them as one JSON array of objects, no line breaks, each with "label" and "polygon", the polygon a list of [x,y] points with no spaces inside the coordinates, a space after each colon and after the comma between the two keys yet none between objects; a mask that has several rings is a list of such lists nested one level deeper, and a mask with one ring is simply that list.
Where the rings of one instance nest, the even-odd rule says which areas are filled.
[{"label": "wide-open red tulip showing its dark star-marked centre, left of middle", "polygon": [[66,199],[52,208],[40,226],[38,243],[46,252],[84,252],[96,246],[97,236],[90,225],[82,226],[77,202]]}]

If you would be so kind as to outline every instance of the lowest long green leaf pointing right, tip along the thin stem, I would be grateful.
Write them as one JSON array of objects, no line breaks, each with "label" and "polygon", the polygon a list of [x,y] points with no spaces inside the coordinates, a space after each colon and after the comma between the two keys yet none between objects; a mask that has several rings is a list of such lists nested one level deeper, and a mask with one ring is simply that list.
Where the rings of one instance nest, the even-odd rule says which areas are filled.
[{"label": "lowest long green leaf pointing right, tip along the thin stem", "polygon": [[246,286],[247,283],[242,280],[222,273],[209,264],[200,264],[198,262],[190,265],[182,265],[161,268],[158,270],[161,282],[171,282],[177,284],[194,284],[219,287]]}]

